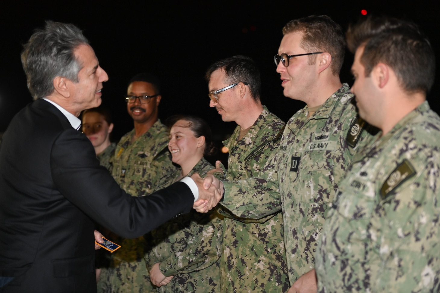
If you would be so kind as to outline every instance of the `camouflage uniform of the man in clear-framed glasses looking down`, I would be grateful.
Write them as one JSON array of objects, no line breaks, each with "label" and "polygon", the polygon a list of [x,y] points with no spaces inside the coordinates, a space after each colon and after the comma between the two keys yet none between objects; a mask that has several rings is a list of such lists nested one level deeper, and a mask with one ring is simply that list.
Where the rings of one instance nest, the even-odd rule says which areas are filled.
[{"label": "camouflage uniform of the man in clear-framed glasses looking down", "polygon": [[[264,106],[257,121],[237,142],[240,127],[223,142],[229,150],[226,178],[260,175],[278,147],[274,140],[284,122]],[[221,292],[285,292],[289,288],[281,212],[258,220],[243,219],[222,208]]]}]

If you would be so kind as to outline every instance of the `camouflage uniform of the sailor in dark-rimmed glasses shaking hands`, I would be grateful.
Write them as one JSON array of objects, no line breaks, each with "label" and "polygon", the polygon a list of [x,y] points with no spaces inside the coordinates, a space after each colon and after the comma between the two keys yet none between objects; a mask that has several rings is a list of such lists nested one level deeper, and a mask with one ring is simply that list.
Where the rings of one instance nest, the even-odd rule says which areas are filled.
[{"label": "camouflage uniform of the sailor in dark-rimmed glasses shaking hands", "polygon": [[224,181],[223,204],[238,216],[257,218],[283,210],[291,285],[314,268],[326,211],[352,162],[348,132],[356,149],[359,133],[367,133],[359,128],[352,100],[348,84],[343,84],[309,119],[305,106],[287,122],[259,178]]}]

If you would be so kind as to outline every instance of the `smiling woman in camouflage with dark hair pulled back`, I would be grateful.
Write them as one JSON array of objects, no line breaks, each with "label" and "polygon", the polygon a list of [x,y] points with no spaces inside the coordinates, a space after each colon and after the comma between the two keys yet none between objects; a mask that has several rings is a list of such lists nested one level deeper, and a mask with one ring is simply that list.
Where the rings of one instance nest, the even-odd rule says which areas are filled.
[{"label": "smiling woman in camouflage with dark hair pulled back", "polygon": [[[214,168],[203,157],[215,152],[211,130],[204,120],[176,115],[169,118],[169,125],[172,127],[168,147],[173,152],[173,161],[181,168],[170,173],[167,182],[158,189],[194,173],[205,177]],[[198,147],[188,144],[200,138],[204,143]],[[158,292],[220,292],[221,218],[216,209],[207,214],[193,210],[151,231],[154,246],[145,260],[152,282],[159,286]],[[155,272],[161,278],[156,279]],[[162,278],[168,278],[169,283],[162,286],[161,282],[165,281]]]}]

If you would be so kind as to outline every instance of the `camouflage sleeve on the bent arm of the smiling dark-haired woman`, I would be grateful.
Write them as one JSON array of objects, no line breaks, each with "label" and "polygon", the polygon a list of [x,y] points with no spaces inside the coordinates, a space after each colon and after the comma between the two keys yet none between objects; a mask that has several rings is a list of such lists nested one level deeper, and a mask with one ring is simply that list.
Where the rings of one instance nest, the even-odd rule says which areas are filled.
[{"label": "camouflage sleeve on the bent arm of the smiling dark-haired woman", "polygon": [[169,236],[165,240],[168,243],[161,242],[156,245],[150,254],[148,265],[151,266],[154,264],[151,261],[154,261],[152,256],[158,255],[158,250],[169,249],[170,255],[161,260],[159,265],[165,276],[202,270],[213,265],[221,256],[223,224],[218,214],[216,212],[202,216],[193,214],[193,219],[197,220],[191,220],[186,228]]}]

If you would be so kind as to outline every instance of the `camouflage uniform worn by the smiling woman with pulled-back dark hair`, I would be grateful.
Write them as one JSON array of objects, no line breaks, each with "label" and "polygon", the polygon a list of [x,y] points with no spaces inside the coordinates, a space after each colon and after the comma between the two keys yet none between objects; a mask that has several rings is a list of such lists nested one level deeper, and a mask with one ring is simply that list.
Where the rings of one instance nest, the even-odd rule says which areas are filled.
[{"label": "camouflage uniform worn by the smiling woman with pulled-back dark hair", "polygon": [[[213,169],[202,158],[187,176],[198,173],[201,177]],[[165,188],[180,176],[180,169],[172,173]],[[150,269],[160,262],[159,269],[171,282],[158,288],[158,292],[220,292],[220,265],[222,220],[216,209],[208,213],[192,210],[154,229],[153,249],[145,260]]]}]

